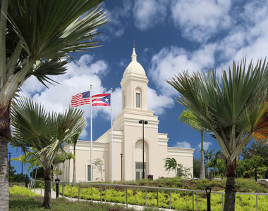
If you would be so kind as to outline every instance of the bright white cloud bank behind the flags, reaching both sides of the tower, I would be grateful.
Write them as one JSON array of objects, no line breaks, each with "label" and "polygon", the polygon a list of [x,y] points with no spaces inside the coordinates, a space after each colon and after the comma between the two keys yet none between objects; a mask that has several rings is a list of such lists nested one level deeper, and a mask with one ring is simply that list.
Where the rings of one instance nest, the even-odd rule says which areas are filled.
[{"label": "bright white cloud bank behind the flags, reaching both sides of the tower", "polygon": [[[80,65],[78,65],[78,63]],[[35,77],[30,77],[23,84],[20,96],[30,96],[34,101],[41,103],[47,111],[62,112],[71,104],[71,97],[75,94],[90,90],[92,84],[92,94],[109,93],[110,90],[102,84],[102,77],[109,72],[109,65],[105,60],[95,60],[94,56],[87,54],[80,57],[78,63],[68,63],[66,74],[52,76],[51,78],[61,84],[47,84],[49,89],[45,88]],[[119,86],[119,82],[118,82]],[[171,98],[157,94],[154,89],[148,88],[149,108],[155,110],[156,114],[164,113],[165,108],[173,105]],[[121,87],[114,89],[112,94],[113,119],[121,112]],[[88,105],[79,106],[84,110],[86,126],[90,125],[90,109]],[[99,115],[110,120],[111,109],[104,106],[93,108],[92,117]],[[87,136],[86,130],[81,134]]]}]

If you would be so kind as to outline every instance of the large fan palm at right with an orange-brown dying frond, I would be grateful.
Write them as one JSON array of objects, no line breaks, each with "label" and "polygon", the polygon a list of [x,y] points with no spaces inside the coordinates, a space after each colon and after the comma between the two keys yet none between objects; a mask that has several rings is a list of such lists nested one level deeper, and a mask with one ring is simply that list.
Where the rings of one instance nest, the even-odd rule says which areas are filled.
[{"label": "large fan palm at right with an orange-brown dying frond", "polygon": [[255,137],[267,143],[268,63],[246,66],[243,59],[229,72],[188,72],[167,80],[181,95],[177,101],[190,109],[197,122],[213,132],[226,158],[224,210],[234,210],[236,166],[240,153]]}]

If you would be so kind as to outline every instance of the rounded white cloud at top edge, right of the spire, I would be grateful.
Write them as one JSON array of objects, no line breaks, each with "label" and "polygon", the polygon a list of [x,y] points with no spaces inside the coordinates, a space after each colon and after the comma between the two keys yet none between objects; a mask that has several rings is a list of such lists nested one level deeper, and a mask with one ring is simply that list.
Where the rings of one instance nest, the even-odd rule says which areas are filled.
[{"label": "rounded white cloud at top edge, right of the spire", "polygon": [[231,26],[230,0],[176,0],[171,3],[174,23],[186,39],[207,41],[219,30]]}]

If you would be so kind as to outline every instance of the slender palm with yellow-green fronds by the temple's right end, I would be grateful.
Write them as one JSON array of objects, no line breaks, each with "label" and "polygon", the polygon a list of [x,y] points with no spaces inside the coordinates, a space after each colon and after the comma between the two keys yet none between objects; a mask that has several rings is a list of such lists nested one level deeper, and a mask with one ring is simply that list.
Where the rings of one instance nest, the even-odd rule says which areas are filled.
[{"label": "slender palm with yellow-green fronds by the temple's right end", "polygon": [[181,122],[188,124],[188,126],[197,130],[201,134],[201,165],[200,165],[200,179],[205,179],[205,162],[204,162],[204,147],[203,147],[203,135],[206,131],[205,128],[202,128],[200,124],[198,124],[197,119],[193,112],[190,110],[183,110],[181,116],[178,118]]}]

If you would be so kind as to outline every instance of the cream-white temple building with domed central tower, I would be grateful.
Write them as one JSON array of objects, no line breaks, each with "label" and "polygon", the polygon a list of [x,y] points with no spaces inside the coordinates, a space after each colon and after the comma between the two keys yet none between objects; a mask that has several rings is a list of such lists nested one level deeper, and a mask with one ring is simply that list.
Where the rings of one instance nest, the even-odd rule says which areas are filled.
[{"label": "cream-white temple building with domed central tower", "polygon": [[[122,110],[113,123],[113,148],[111,153],[111,129],[96,141],[93,141],[92,160],[97,158],[104,162],[102,176],[94,167],[90,171],[90,141],[78,141],[75,147],[76,180],[93,181],[135,180],[142,178],[142,124],[139,120],[146,120],[145,129],[145,178],[148,174],[154,179],[159,177],[175,177],[175,172],[164,170],[164,159],[175,158],[176,161],[191,169],[193,177],[193,148],[168,147],[168,134],[158,132],[159,120],[154,112],[147,108],[148,79],[142,65],[137,61],[135,47],[131,62],[123,73],[121,80]],[[73,153],[73,146],[66,146],[67,153]],[[122,166],[121,166],[121,154]],[[113,158],[111,159],[111,155]],[[111,165],[113,160],[113,165]],[[60,179],[72,181],[73,161],[68,170],[68,160]],[[113,170],[111,171],[111,166]],[[63,165],[61,165],[63,167]],[[122,167],[122,175],[121,175]],[[111,175],[113,172],[113,175]],[[68,178],[68,173],[70,177]],[[101,178],[102,177],[102,178]]]}]

